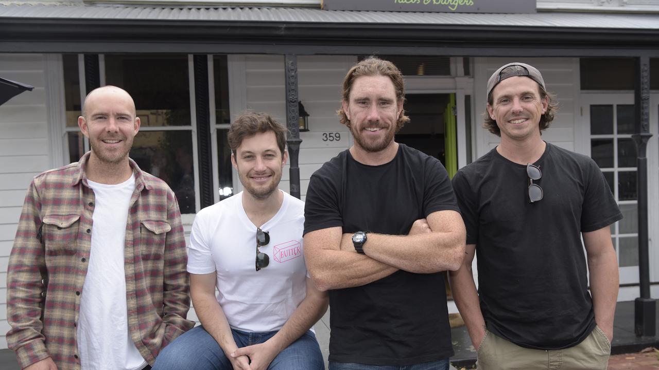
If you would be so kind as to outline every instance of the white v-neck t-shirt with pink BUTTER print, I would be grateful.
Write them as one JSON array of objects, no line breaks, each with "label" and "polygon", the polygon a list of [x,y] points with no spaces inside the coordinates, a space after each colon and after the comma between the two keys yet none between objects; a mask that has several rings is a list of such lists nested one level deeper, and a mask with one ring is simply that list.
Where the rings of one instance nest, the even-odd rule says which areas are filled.
[{"label": "white v-neck t-shirt with pink BUTTER print", "polygon": [[302,255],[304,202],[282,192],[281,208],[261,230],[268,267],[256,271],[256,226],[243,209],[243,192],[197,213],[190,233],[188,272],[216,273],[217,302],[233,329],[279,330],[306,296]]}]

